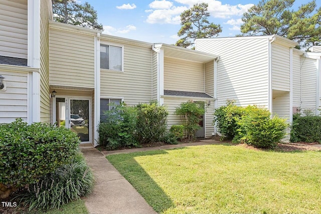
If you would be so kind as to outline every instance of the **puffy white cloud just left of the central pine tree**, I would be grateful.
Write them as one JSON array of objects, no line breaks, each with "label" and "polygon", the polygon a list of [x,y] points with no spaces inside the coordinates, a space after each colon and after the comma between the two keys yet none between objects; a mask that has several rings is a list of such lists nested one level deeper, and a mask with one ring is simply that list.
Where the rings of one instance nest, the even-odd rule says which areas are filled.
[{"label": "puffy white cloud just left of the central pine tree", "polygon": [[149,24],[180,24],[180,15],[185,10],[187,10],[186,7],[172,7],[168,10],[154,10],[148,15],[146,22]]}]

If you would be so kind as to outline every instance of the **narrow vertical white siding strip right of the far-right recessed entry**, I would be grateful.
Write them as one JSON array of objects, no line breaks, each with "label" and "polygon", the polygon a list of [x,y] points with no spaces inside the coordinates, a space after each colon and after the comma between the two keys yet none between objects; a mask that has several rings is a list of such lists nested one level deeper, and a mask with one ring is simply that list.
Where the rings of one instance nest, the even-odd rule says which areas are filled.
[{"label": "narrow vertical white siding strip right of the far-right recessed entry", "polygon": [[293,106],[301,107],[301,53],[293,50]]}]

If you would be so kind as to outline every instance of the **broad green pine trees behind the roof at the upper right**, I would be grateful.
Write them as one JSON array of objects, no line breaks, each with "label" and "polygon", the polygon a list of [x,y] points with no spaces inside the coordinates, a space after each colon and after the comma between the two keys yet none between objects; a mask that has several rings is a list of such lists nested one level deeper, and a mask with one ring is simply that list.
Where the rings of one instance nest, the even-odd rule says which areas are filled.
[{"label": "broad green pine trees behind the roof at the upper right", "polygon": [[321,8],[315,0],[291,10],[295,0],[262,0],[243,14],[243,35],[279,35],[300,43],[316,45],[321,41]]}]

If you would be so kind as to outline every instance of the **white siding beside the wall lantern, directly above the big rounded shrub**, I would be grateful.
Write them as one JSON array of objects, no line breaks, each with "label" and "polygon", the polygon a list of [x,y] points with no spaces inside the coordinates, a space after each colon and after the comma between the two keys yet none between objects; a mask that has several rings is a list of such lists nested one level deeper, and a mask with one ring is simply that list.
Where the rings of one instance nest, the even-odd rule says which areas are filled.
[{"label": "white siding beside the wall lantern, directly above the big rounded shrub", "polygon": [[[19,70],[17,68],[17,70]],[[28,117],[28,72],[3,71],[6,91],[0,91],[0,123],[10,123]]]}]

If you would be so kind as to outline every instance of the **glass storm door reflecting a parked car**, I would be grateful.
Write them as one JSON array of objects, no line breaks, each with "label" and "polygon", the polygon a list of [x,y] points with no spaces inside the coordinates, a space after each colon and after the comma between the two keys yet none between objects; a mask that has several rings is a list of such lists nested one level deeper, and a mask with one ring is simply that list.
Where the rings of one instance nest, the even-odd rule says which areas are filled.
[{"label": "glass storm door reflecting a parked car", "polygon": [[70,99],[69,127],[75,132],[80,141],[89,141],[89,100]]}]

